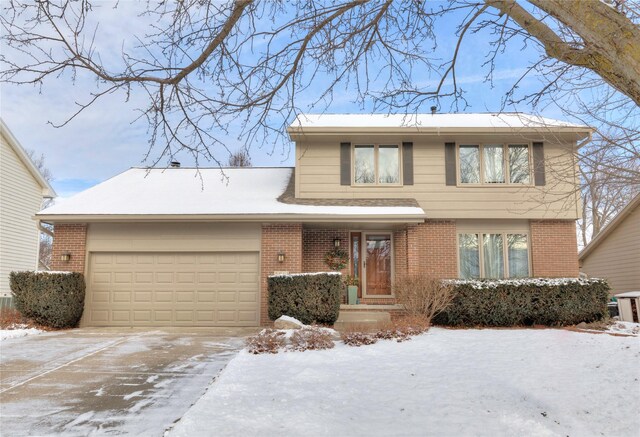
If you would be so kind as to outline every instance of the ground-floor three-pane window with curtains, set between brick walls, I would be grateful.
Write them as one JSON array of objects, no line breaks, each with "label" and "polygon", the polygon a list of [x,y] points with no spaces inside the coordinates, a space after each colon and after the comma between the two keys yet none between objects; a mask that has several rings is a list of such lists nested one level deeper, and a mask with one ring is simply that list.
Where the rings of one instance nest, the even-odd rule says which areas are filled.
[{"label": "ground-floor three-pane window with curtains, set between brick walls", "polygon": [[525,233],[460,234],[458,252],[461,278],[529,276],[529,244]]}]

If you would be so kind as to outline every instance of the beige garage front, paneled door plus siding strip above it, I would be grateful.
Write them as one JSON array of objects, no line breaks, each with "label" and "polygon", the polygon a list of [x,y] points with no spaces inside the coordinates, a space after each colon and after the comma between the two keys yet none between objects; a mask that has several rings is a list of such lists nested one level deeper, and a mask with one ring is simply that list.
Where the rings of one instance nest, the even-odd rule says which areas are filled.
[{"label": "beige garage front, paneled door plus siding strip above it", "polygon": [[82,326],[258,326],[260,226],[91,223]]}]

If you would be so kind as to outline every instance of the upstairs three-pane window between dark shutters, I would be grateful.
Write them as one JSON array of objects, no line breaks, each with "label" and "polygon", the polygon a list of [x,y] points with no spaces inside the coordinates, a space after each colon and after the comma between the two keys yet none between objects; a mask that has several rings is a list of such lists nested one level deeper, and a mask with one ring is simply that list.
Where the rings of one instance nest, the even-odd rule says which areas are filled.
[{"label": "upstairs three-pane window between dark shutters", "polygon": [[531,164],[527,144],[460,145],[458,170],[461,184],[530,184]]}]

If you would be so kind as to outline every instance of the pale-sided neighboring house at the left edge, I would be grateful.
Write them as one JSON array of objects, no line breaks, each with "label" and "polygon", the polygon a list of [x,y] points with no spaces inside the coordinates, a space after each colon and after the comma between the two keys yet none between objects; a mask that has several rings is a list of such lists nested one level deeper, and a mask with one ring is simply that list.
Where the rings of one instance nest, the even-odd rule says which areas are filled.
[{"label": "pale-sided neighboring house at the left edge", "polygon": [[9,273],[37,270],[40,242],[35,214],[56,193],[0,119],[0,297],[10,296]]}]

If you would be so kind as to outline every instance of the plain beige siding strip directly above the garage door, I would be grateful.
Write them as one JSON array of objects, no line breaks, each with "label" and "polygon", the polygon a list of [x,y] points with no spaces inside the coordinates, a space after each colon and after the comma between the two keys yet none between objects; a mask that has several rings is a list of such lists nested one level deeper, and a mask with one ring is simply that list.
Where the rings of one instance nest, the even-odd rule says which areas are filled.
[{"label": "plain beige siding strip directly above the garage door", "polygon": [[87,252],[259,251],[260,224],[91,223]]}]

